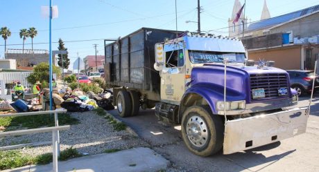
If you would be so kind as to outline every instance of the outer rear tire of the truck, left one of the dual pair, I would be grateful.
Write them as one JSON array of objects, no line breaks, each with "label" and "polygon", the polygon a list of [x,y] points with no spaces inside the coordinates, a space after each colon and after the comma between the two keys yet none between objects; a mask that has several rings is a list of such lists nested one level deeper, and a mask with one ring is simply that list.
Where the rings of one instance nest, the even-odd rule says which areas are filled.
[{"label": "outer rear tire of the truck, left one of the dual pair", "polygon": [[132,111],[132,101],[130,93],[126,90],[120,90],[117,93],[117,111],[121,117],[128,117]]}]

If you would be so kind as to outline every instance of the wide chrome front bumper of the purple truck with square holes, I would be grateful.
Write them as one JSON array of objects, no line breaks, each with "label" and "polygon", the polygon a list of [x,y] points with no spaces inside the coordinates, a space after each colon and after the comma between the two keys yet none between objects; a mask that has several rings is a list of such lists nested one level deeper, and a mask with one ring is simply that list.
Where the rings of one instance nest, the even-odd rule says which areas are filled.
[{"label": "wide chrome front bumper of the purple truck with square holes", "polygon": [[257,115],[225,123],[223,153],[252,149],[306,132],[307,108]]}]

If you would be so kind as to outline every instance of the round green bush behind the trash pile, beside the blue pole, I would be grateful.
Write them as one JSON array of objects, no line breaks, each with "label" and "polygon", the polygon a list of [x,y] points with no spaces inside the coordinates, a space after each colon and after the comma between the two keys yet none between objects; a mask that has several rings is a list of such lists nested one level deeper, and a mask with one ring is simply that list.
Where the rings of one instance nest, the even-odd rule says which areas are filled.
[{"label": "round green bush behind the trash pile, beside the blue pole", "polygon": [[[52,66],[52,71],[58,76],[60,76],[60,69],[57,66]],[[29,83],[35,84],[35,82],[40,81],[40,83],[49,83],[49,64],[42,62],[37,64],[33,68],[33,73],[26,77]]]}]

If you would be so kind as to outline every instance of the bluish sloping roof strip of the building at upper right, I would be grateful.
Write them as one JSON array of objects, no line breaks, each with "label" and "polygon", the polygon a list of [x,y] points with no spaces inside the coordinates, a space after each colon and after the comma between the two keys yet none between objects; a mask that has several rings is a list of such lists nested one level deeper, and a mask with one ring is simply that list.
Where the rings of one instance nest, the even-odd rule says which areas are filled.
[{"label": "bluish sloping roof strip of the building at upper right", "polygon": [[286,15],[281,15],[281,16],[277,16],[277,17],[272,17],[269,19],[265,19],[256,23],[251,23],[248,26],[248,30],[246,30],[247,32],[250,32],[252,30],[259,30],[259,29],[264,29],[264,28],[270,28],[272,26],[276,26],[280,23],[284,23],[287,21],[291,21],[293,19],[296,18],[300,18],[302,16],[306,16],[306,15],[310,15],[311,13],[314,12],[319,12],[319,5],[317,6],[312,6],[309,8],[304,8],[302,10],[298,10],[295,12],[290,12]]}]

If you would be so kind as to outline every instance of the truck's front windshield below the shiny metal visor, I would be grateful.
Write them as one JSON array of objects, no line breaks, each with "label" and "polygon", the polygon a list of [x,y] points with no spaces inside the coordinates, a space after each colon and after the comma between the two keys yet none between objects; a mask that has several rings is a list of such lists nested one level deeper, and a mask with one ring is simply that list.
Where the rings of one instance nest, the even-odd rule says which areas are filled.
[{"label": "truck's front windshield below the shiny metal visor", "polygon": [[228,61],[243,63],[245,61],[245,53],[243,52],[213,52],[189,50],[189,59],[193,64],[203,63],[223,63],[223,59],[227,57]]}]

